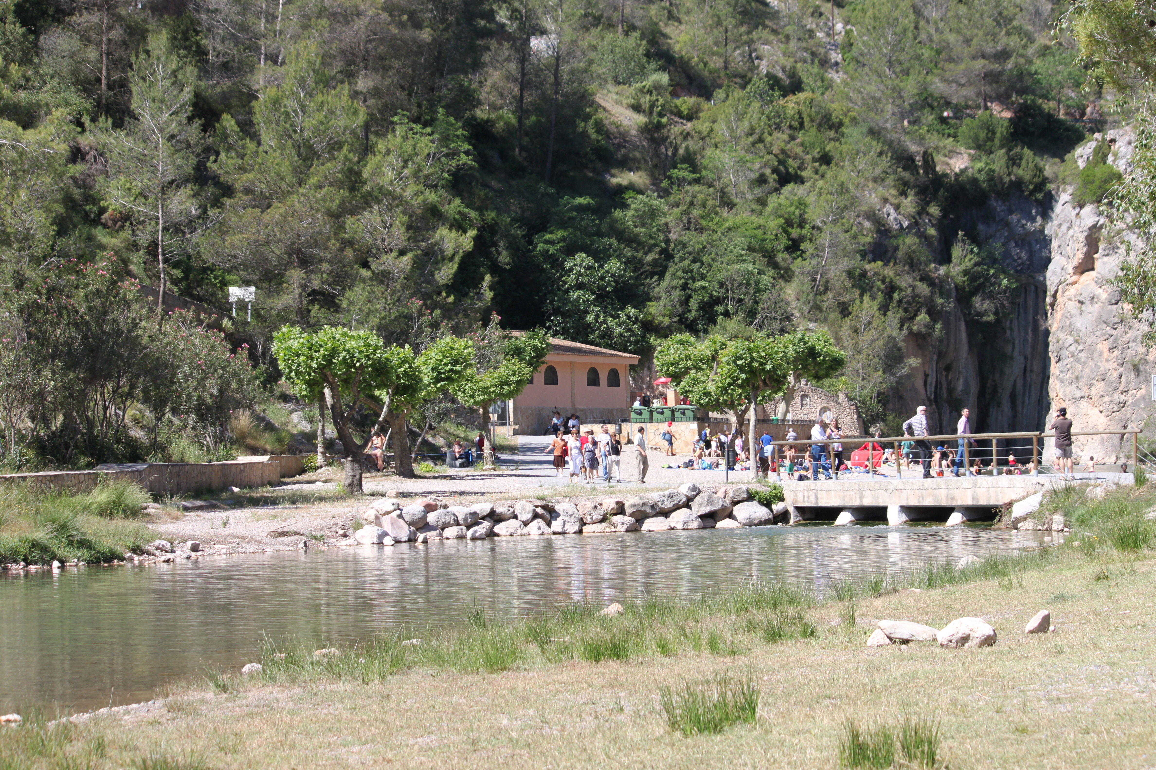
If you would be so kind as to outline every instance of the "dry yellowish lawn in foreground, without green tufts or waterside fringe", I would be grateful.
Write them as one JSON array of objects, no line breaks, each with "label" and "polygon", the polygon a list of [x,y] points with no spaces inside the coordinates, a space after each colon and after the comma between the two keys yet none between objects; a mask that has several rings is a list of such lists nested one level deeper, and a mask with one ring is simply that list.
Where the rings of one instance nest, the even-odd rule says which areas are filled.
[{"label": "dry yellowish lawn in foreground, without green tufts or waterside fringe", "polygon": [[[859,600],[853,620],[847,603],[821,606],[814,638],[748,636],[733,656],[415,668],[369,683],[235,676],[224,693],[191,683],[157,711],[97,716],[55,748],[9,753],[13,764],[0,752],[0,767],[833,768],[849,719],[897,727],[905,716],[940,722],[941,767],[1154,767],[1156,562],[1065,551],[1017,577]],[[1054,633],[1024,635],[1040,608]],[[994,626],[998,644],[865,646],[880,619],[964,615]],[[718,672],[758,682],[756,723],[672,732],[659,687]]]}]

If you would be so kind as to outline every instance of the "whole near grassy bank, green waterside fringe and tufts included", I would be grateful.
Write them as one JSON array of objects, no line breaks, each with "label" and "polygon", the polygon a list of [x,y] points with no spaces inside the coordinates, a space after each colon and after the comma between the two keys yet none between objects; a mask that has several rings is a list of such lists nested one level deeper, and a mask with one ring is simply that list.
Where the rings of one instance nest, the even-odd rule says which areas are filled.
[{"label": "whole near grassy bank, green waterside fringe and tufts included", "polygon": [[[0,767],[1150,767],[1151,523],[1140,548],[1109,533],[1154,502],[1122,491],[1062,546],[822,596],[736,578],[616,616],[474,610],[340,655],[267,644],[259,674],[210,672],[160,711],[0,731]],[[1055,631],[1024,635],[1040,608]],[[882,619],[959,616],[999,643],[865,646]]]}]

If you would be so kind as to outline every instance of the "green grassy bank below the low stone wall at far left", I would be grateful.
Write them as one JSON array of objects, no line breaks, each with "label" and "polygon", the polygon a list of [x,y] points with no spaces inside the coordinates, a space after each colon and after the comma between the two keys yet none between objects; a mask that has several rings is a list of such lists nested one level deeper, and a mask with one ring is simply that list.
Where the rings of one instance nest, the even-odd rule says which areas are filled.
[{"label": "green grassy bank below the low stone wall at far left", "polygon": [[139,485],[120,480],[82,494],[0,486],[0,565],[124,559],[125,552],[139,552],[155,539],[133,521],[151,500]]}]

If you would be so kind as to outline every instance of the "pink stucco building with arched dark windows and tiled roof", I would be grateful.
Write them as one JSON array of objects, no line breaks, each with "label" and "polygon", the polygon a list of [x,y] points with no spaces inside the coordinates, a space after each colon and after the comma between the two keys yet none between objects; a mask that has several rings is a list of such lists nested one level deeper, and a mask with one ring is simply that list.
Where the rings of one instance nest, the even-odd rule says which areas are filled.
[{"label": "pink stucco building with arched dark windows and tiled roof", "polygon": [[630,365],[637,356],[554,337],[550,345],[546,364],[506,406],[518,433],[542,434],[555,411],[577,413],[583,424],[630,420]]}]

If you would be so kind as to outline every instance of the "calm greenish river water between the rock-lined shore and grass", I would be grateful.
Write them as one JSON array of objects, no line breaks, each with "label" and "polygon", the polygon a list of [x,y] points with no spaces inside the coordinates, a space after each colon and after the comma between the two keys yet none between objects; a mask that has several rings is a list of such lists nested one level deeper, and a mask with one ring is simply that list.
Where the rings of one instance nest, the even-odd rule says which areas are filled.
[{"label": "calm greenish river water between the rock-lined shore and grass", "polygon": [[984,526],[769,526],[449,540],[279,552],[0,580],[0,713],[148,700],[206,667],[253,659],[262,634],[342,646],[376,633],[517,616],[560,604],[698,596],[786,580],[906,571],[1036,546]]}]

